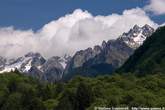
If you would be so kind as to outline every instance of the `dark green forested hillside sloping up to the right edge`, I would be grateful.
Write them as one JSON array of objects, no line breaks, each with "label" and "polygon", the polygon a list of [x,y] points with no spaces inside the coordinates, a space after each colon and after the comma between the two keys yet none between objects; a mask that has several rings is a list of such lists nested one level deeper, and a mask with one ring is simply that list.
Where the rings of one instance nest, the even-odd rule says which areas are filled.
[{"label": "dark green forested hillside sloping up to the right edge", "polygon": [[165,72],[165,26],[156,30],[118,72],[153,74]]}]

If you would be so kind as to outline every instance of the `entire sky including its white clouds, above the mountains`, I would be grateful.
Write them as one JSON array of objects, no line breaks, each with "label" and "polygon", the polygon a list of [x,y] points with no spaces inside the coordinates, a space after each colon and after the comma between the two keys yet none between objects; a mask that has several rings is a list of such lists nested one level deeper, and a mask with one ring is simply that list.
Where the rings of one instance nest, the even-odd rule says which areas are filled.
[{"label": "entire sky including its white clouds, above the mountains", "polygon": [[165,0],[0,0],[0,56],[73,55],[145,24],[165,25]]}]

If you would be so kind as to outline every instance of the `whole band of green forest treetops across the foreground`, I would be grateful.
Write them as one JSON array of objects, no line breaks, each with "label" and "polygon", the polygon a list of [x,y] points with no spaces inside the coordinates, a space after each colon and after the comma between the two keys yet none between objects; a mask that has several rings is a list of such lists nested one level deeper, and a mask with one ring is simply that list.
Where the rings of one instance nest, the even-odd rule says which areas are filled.
[{"label": "whole band of green forest treetops across the foreground", "polygon": [[50,84],[19,73],[0,75],[0,110],[93,110],[99,107],[164,107],[165,75],[133,74]]}]

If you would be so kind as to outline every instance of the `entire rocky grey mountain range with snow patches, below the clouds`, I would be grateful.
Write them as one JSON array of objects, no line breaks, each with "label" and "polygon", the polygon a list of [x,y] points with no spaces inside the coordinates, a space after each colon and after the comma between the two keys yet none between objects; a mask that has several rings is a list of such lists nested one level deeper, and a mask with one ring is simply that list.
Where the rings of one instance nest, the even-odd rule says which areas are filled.
[{"label": "entire rocky grey mountain range with snow patches, below the clouds", "polygon": [[21,73],[49,82],[68,80],[78,74],[111,74],[124,64],[154,31],[147,24],[143,27],[135,25],[117,39],[103,41],[102,45],[80,50],[72,57],[65,55],[45,59],[40,53],[33,52],[14,59],[0,57],[0,73],[18,69]]}]

